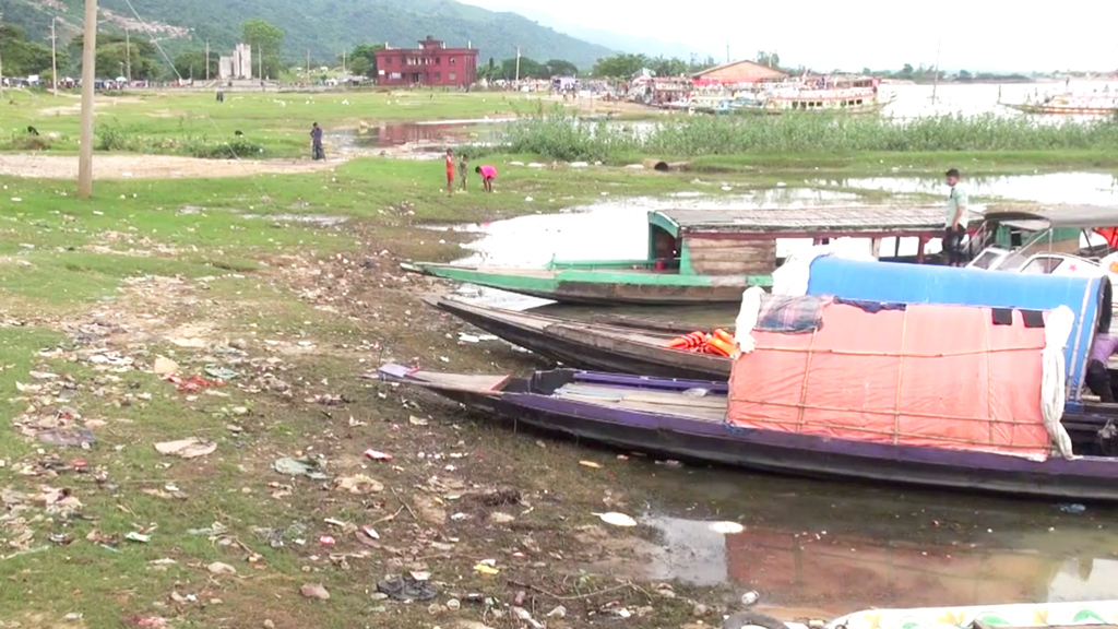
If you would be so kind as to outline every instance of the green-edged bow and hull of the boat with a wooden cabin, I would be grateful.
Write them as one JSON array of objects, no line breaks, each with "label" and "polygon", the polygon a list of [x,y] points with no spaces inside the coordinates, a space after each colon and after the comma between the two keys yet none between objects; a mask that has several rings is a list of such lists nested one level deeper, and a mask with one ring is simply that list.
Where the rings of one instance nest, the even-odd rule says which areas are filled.
[{"label": "green-edged bow and hull of the boat with a wooden cabin", "polygon": [[404,269],[479,287],[588,306],[736,303],[750,285],[750,278],[745,275],[679,275],[614,270],[489,270],[425,263],[406,264]]}]

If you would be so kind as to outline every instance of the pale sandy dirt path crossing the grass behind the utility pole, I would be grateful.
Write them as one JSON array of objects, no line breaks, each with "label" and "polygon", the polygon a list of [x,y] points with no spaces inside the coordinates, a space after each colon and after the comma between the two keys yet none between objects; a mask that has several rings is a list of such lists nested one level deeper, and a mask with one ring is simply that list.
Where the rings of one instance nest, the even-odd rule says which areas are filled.
[{"label": "pale sandy dirt path crossing the grass behind the utility pole", "polygon": [[[341,160],[231,160],[176,156],[100,154],[94,158],[98,179],[168,179],[246,177],[328,170]],[[38,179],[74,179],[77,156],[0,154],[0,175]]]}]

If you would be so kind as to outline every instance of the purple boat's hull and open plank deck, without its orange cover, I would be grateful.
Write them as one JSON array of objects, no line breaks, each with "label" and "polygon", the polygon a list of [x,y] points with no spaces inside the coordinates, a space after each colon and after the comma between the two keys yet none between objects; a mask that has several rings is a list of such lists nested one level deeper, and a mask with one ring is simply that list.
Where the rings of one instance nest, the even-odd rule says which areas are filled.
[{"label": "purple boat's hull and open plank deck, without its orange cover", "polygon": [[[440,374],[386,365],[385,379],[419,386],[517,424],[626,451],[815,478],[910,484],[1118,501],[1118,459],[1035,461],[997,453],[865,443],[743,430],[724,420],[726,383],[555,369],[529,377]],[[707,393],[694,397],[697,393]],[[494,417],[495,419],[495,417]],[[1108,417],[1068,414],[1077,450],[1090,451]]]}]

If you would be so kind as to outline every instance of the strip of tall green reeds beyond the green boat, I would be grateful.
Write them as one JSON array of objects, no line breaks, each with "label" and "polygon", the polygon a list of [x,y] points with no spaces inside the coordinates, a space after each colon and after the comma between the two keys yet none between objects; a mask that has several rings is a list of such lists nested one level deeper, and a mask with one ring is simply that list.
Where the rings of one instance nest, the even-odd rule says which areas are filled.
[{"label": "strip of tall green reeds beyond the green boat", "polygon": [[609,160],[633,153],[699,157],[855,151],[1118,150],[1118,121],[1040,123],[993,114],[908,120],[862,115],[695,115],[639,129],[587,123],[553,112],[511,124],[503,148],[557,160]]}]

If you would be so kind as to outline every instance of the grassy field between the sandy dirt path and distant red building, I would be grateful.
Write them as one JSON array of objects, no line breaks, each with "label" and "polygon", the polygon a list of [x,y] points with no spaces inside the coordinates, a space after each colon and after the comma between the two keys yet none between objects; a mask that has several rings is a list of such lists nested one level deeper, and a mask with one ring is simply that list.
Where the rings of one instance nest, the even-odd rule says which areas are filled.
[{"label": "grassy field between the sandy dirt path and distant red building", "polygon": [[[78,105],[69,94],[9,91],[0,102],[0,150],[77,151]],[[356,131],[362,122],[377,126],[539,111],[537,98],[491,93],[238,92],[224,103],[209,92],[98,94],[97,149],[228,158],[231,145],[241,157],[294,157],[306,154],[312,122],[328,131]],[[28,126],[39,134],[29,134]]]}]

